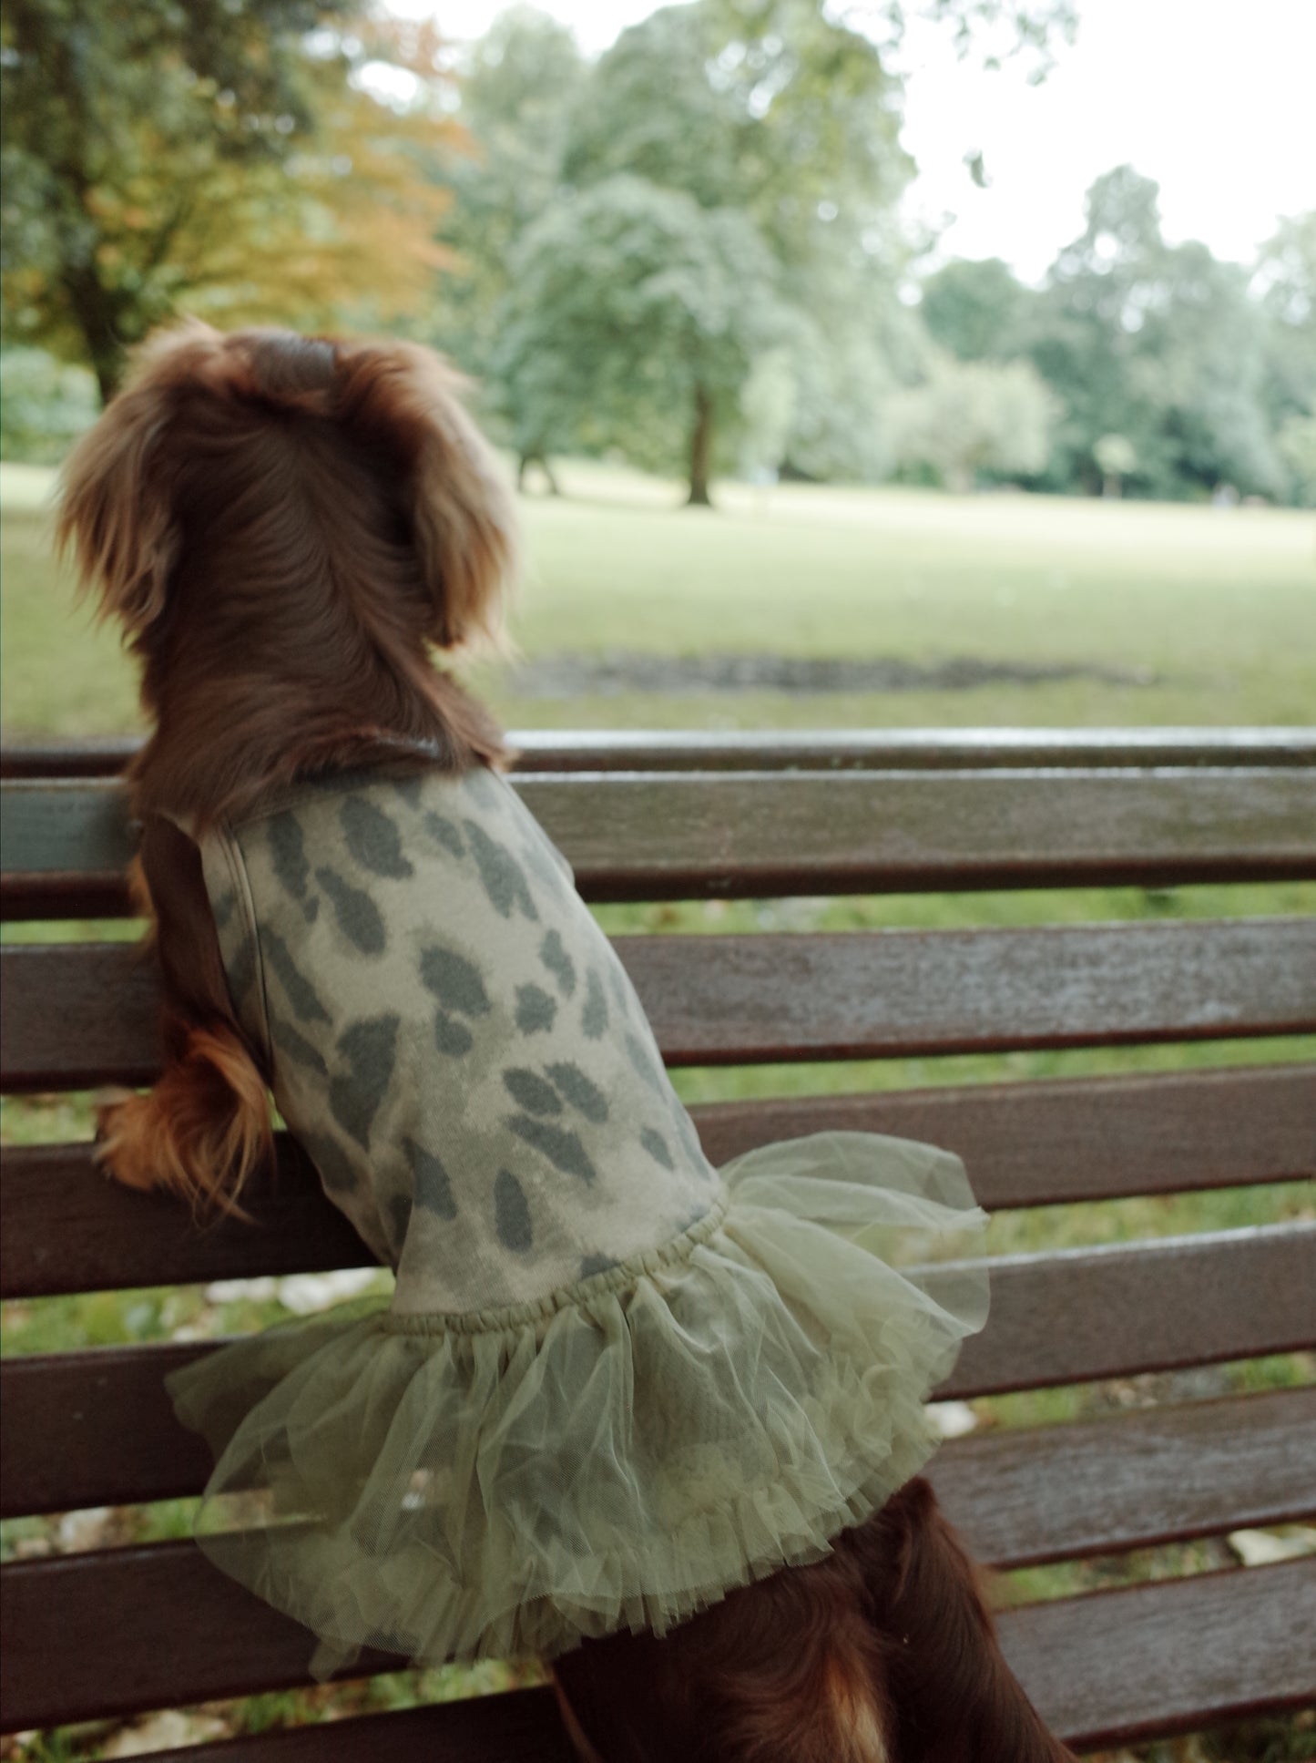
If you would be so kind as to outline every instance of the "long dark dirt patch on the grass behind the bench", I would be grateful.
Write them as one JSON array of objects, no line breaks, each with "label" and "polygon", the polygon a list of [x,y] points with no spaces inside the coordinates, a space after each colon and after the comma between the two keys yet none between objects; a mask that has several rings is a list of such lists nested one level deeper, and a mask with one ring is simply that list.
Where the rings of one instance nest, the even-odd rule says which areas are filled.
[{"label": "long dark dirt patch on the grass behind the bench", "polygon": [[976,686],[1043,686],[1054,681],[1101,686],[1156,686],[1150,668],[1085,663],[980,661],[958,656],[918,661],[840,661],[805,656],[652,656],[620,651],[601,656],[544,656],[513,675],[525,698],[608,696],[627,691],[972,691]]}]

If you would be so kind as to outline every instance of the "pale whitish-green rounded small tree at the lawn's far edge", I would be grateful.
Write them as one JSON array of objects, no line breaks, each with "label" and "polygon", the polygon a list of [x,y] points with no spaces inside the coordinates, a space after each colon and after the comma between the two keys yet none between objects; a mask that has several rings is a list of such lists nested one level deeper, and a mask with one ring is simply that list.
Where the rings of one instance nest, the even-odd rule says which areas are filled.
[{"label": "pale whitish-green rounded small tree at the lawn's far edge", "polygon": [[1041,471],[1052,397],[1027,361],[943,358],[927,384],[890,400],[888,421],[900,464],[930,467],[964,495],[981,472]]}]

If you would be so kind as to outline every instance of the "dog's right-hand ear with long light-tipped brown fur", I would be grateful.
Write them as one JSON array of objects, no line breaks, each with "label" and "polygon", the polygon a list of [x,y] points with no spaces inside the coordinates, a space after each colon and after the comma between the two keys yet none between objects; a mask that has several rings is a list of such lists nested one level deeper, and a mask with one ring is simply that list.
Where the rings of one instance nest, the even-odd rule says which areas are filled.
[{"label": "dog's right-hand ear with long light-tipped brown fur", "polygon": [[396,460],[444,649],[502,636],[516,554],[513,495],[462,402],[465,381],[407,342],[340,344],[338,420]]}]

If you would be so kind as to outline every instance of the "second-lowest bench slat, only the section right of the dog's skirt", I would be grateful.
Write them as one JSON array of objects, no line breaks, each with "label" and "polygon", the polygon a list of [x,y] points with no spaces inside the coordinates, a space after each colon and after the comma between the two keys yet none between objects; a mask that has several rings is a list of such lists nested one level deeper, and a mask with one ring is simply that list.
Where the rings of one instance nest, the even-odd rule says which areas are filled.
[{"label": "second-lowest bench slat, only the section right of the dog's skirt", "polygon": [[955,1439],[928,1470],[976,1560],[1029,1567],[1316,1514],[1316,1389]]}]

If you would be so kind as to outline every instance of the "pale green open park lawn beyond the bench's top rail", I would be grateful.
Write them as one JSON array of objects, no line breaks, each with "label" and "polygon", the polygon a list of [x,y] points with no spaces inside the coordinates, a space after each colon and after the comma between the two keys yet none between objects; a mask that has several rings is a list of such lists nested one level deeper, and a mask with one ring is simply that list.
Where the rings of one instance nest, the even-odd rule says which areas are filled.
[{"label": "pale green open park lawn beyond the bench's top rail", "polygon": [[[4,728],[139,726],[132,666],[49,550],[51,476],[0,469]],[[567,464],[523,499],[513,636],[557,654],[974,659],[1113,670],[884,693],[525,696],[476,672],[520,728],[1133,726],[1304,723],[1316,707],[1316,522],[1025,495],[743,485],[680,510],[671,485]]]}]

